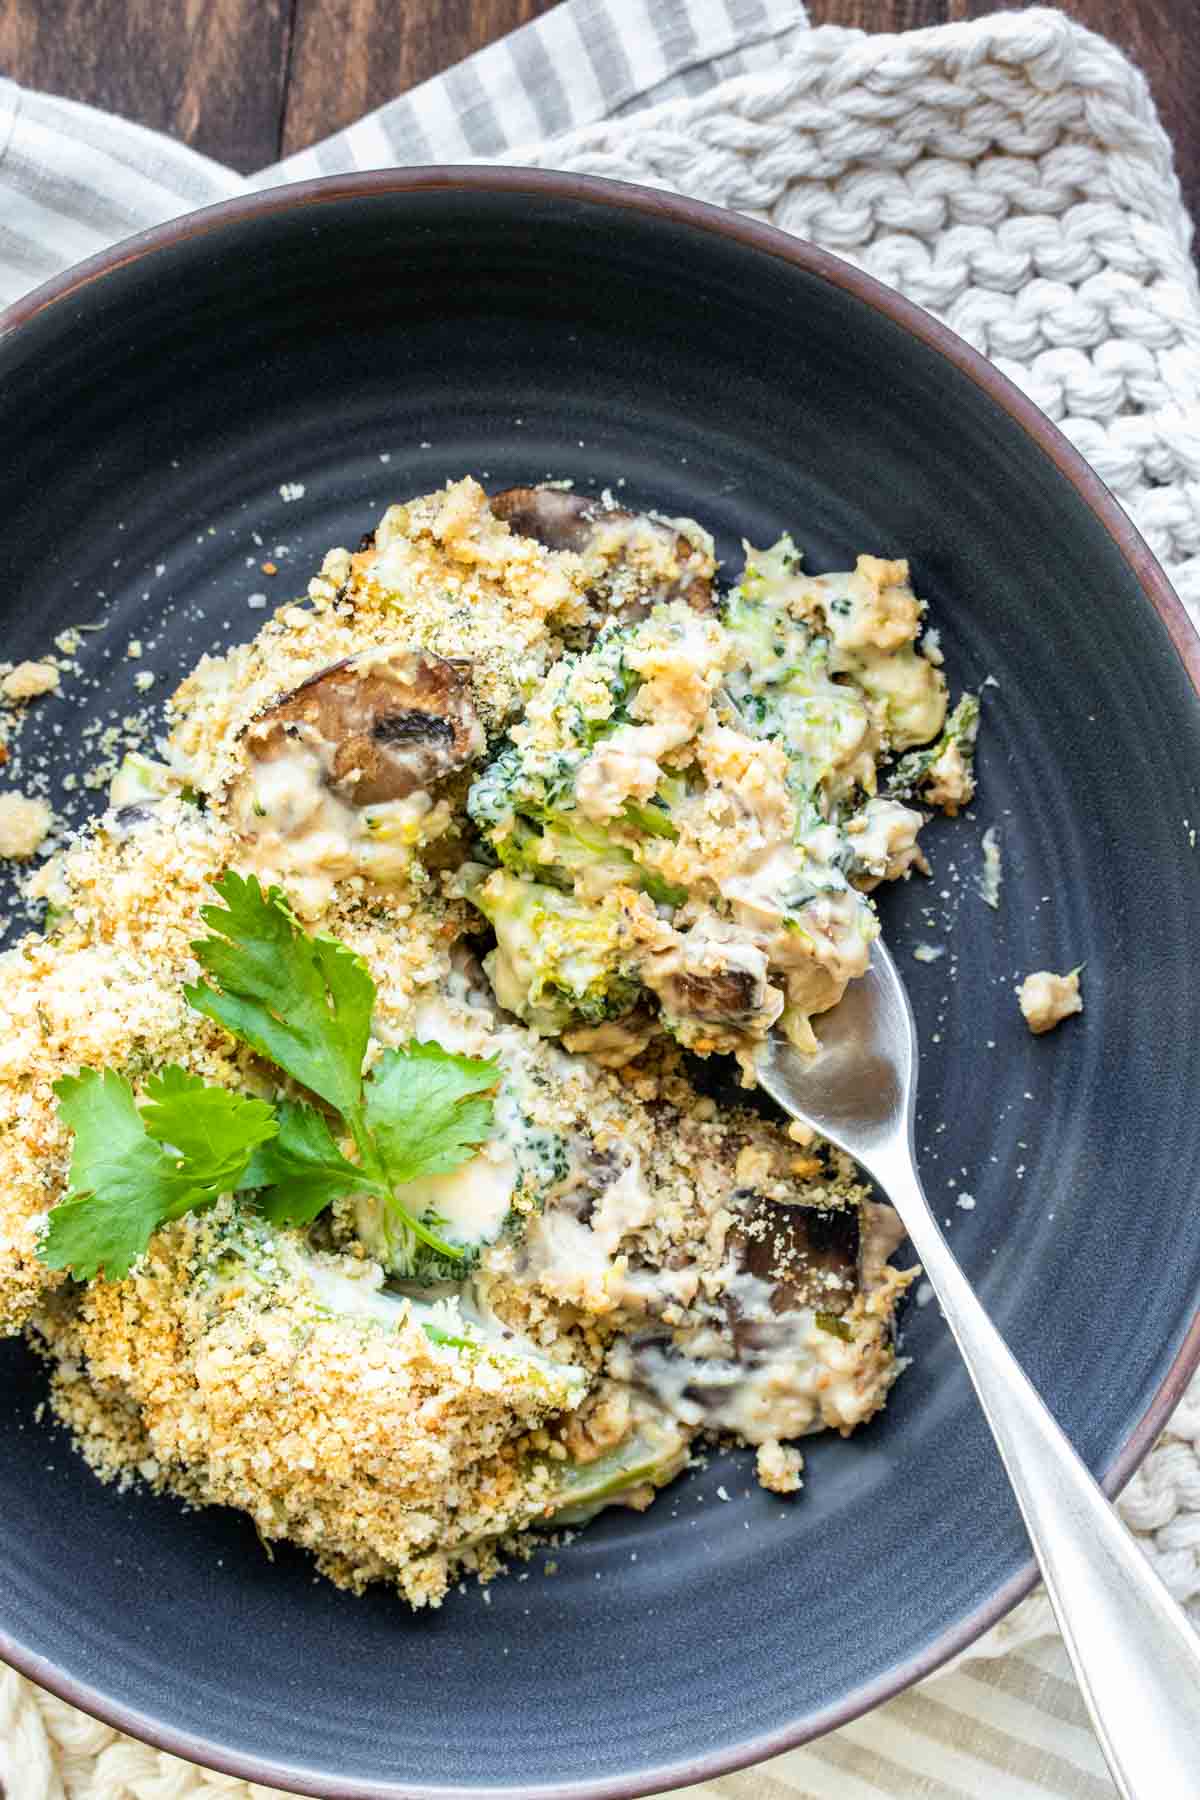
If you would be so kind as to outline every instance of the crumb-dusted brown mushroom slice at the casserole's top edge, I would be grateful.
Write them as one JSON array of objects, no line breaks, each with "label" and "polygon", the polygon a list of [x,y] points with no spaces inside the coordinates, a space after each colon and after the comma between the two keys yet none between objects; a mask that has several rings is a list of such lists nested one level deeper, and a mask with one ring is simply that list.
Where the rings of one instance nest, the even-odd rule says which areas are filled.
[{"label": "crumb-dusted brown mushroom slice at the casserole's top edge", "polygon": [[622,621],[664,599],[685,599],[696,612],[712,607],[712,553],[675,524],[561,488],[506,488],[489,506],[520,536],[583,556],[590,589]]}]

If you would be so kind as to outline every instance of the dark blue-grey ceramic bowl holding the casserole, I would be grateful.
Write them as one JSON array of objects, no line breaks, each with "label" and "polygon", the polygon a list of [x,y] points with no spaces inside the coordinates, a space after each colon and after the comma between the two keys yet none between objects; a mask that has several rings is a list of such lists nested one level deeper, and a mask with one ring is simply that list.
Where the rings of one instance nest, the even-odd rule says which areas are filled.
[{"label": "dark blue-grey ceramic bowl holding the casserole", "polygon": [[[297,607],[304,630],[331,544],[353,556],[389,504],[471,472],[700,518],[725,562],[783,531],[813,571],[909,556],[945,668],[984,709],[979,796],[932,877],[912,868],[882,900],[923,1040],[925,1168],[977,1201],[946,1202],[955,1249],[1051,1408],[1110,1489],[1130,1474],[1200,1357],[1180,1049],[1200,1013],[1200,655],[1148,547],[1027,400],[797,239],[520,169],[318,182],[162,227],[0,319],[0,396],[22,443],[0,464],[4,650],[14,670],[56,655],[61,689],[5,700],[5,785],[76,823],[121,740],[153,745],[158,695],[201,653],[266,607]],[[525,680],[524,653],[497,693]],[[1000,823],[991,907],[981,837]],[[923,963],[928,941],[950,954]],[[121,954],[115,932],[117,970]],[[1034,1046],[1015,979],[1083,959],[1085,1015]],[[47,1030],[31,1006],[18,1102]],[[727,1111],[729,1078],[707,1080]],[[31,1157],[25,1222],[40,1179]],[[36,1244],[4,1244],[7,1217],[18,1265]],[[95,1332],[113,1357],[137,1345],[124,1310]],[[252,1343],[250,1397],[291,1368],[273,1337]],[[1031,1584],[937,1309],[907,1314],[900,1352],[887,1409],[858,1442],[806,1442],[802,1478],[786,1445],[765,1447],[768,1489],[714,1447],[648,1512],[516,1559],[488,1604],[464,1584],[412,1616],[378,1584],[315,1582],[318,1548],[268,1561],[237,1514],[99,1485],[36,1424],[45,1377],[11,1339],[0,1651],[182,1757],[302,1793],[585,1800],[703,1780],[898,1692]],[[383,1433],[356,1400],[354,1429]],[[336,1467],[335,1445],[311,1454]]]}]

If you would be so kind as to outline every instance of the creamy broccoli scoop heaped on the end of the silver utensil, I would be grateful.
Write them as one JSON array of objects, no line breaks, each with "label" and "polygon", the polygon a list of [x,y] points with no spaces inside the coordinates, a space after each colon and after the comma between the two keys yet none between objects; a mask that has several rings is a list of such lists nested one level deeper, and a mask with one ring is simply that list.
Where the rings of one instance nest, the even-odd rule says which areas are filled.
[{"label": "creamy broccoli scoop heaped on the end of the silver utensil", "polygon": [[[900,842],[896,808],[867,812],[889,747],[945,720],[921,612],[903,562],[810,578],[784,536],[718,614],[660,607],[561,657],[470,797],[502,1004],[604,1055],[635,1046],[583,1028],[639,997],[702,1053],[835,1004],[876,931],[858,889],[923,868],[919,817]],[[930,799],[964,787],[930,758]]]}]

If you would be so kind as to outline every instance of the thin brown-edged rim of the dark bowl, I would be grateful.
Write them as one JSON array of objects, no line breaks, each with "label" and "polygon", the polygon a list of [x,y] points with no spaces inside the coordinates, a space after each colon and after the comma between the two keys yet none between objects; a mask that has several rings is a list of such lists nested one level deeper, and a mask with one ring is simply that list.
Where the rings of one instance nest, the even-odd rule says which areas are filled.
[{"label": "thin brown-edged rim of the dark bowl", "polygon": [[[1200,698],[1200,634],[1191,625],[1182,601],[1175,594],[1162,567],[1150,545],[1124,513],[1121,504],[1108,491],[1099,475],[1085,463],[1063,432],[1029,400],[1006,374],[1002,374],[979,351],[972,349],[955,331],[941,324],[932,313],[905,299],[892,288],[864,274],[842,257],[820,250],[817,245],[795,238],[790,232],[768,225],[761,220],[691,200],[684,194],[653,187],[640,187],[631,182],[612,182],[594,175],[570,175],[556,169],[495,166],[495,164],[423,164],[414,167],[369,169],[356,175],[320,176],[309,182],[288,182],[259,193],[239,194],[216,205],[184,212],[162,225],[124,238],[76,263],[54,275],[50,281],[22,295],[18,301],[0,310],[0,353],[13,337],[41,313],[72,299],[83,288],[106,275],[131,265],[146,261],[162,250],[171,250],[193,238],[205,238],[221,232],[227,225],[246,220],[263,220],[277,212],[290,212],[300,207],[320,207],[342,200],[383,198],[389,194],[414,194],[437,191],[468,191],[475,194],[529,194],[534,198],[567,200],[583,205],[608,207],[619,212],[637,212],[649,220],[662,220],[673,225],[685,225],[693,230],[711,232],[736,243],[759,256],[792,265],[808,275],[815,275],[831,286],[842,288],[847,295],[871,306],[891,319],[910,337],[918,338],[936,355],[950,362],[961,374],[981,387],[1033,441],[1033,445],[1054,464],[1083,504],[1105,527],[1115,549],[1135,576],[1142,594],[1159,614],[1175,652],[1184,664],[1191,686]],[[1191,1319],[1159,1390],[1146,1413],[1133,1427],[1126,1442],[1117,1449],[1110,1465],[1101,1476],[1105,1492],[1114,1498],[1133,1474],[1150,1445],[1166,1424],[1169,1413],[1180,1400],[1191,1375],[1200,1366],[1200,1309]],[[146,1714],[135,1712],[122,1703],[110,1699],[99,1688],[68,1674],[58,1663],[50,1663],[20,1645],[0,1627],[0,1660],[38,1687],[47,1688],[59,1699],[81,1712],[101,1719],[131,1737],[166,1750],[171,1755],[198,1762],[223,1775],[236,1775],[248,1782],[282,1787],[293,1793],[322,1796],[322,1800],[637,1800],[640,1795],[664,1793],[673,1787],[712,1780],[734,1769],[743,1769],[795,1750],[799,1744],[849,1724],[864,1712],[892,1699],[925,1676],[932,1674],[950,1658],[961,1654],[970,1643],[995,1625],[1011,1607],[1022,1600],[1038,1579],[1033,1559],[1016,1571],[1002,1588],[984,1600],[973,1613],[943,1631],[932,1643],[918,1654],[887,1669],[873,1681],[864,1683],[851,1694],[829,1706],[808,1712],[792,1724],[775,1732],[766,1732],[752,1739],[729,1744],[723,1750],[700,1757],[684,1757],[671,1764],[626,1771],[619,1777],[592,1780],[569,1780],[540,1784],[536,1787],[462,1787],[462,1786],[414,1786],[412,1782],[356,1782],[331,1778],[315,1769],[295,1764],[281,1764],[270,1759],[243,1755],[225,1746],[198,1737],[191,1732],[176,1730]]]}]

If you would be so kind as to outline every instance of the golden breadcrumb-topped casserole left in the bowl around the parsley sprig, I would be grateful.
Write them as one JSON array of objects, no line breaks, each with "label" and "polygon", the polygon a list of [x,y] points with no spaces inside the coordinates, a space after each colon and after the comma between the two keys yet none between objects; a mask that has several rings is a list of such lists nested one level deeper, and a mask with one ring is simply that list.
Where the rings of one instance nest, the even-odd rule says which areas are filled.
[{"label": "golden breadcrumb-topped casserole left in the bowl around the parsley sprig", "polygon": [[[680,556],[711,572],[702,529],[671,526],[678,544],[622,526],[592,545],[606,594],[622,592],[626,553],[639,601],[655,571],[678,587]],[[201,659],[169,704],[166,761],[130,760],[110,810],[31,882],[45,932],[0,958],[0,1332],[49,1350],[54,1408],[103,1480],[237,1507],[340,1586],[389,1580],[414,1606],[439,1604],[464,1571],[488,1579],[522,1532],[648,1505],[707,1436],[756,1445],[763,1485],[793,1492],[802,1458],[788,1440],[853,1431],[901,1368],[892,1314],[912,1273],[885,1260],[887,1210],[811,1134],[718,1111],[678,1046],[637,1019],[574,1031],[565,1049],[498,1010],[453,873],[470,839],[457,772],[437,794],[439,832],[408,833],[385,878],[383,864],[335,871],[311,918],[367,963],[369,1062],[414,1037],[500,1062],[486,1154],[513,1192],[468,1280],[398,1280],[362,1197],[300,1233],[227,1195],[164,1226],[124,1280],[74,1283],[38,1255],[70,1163],[54,1082],[117,1069],[142,1098],[178,1064],[288,1098],[279,1071],[184,992],[214,880],[254,866],[230,805],[248,727],[331,664],[399,646],[466,664],[484,754],[594,623],[596,580],[587,558],[495,518],[471,479],[390,508],[363,549],[329,553],[306,601]],[[862,558],[847,580],[855,653],[909,643],[907,567]],[[664,617],[678,625],[675,608]],[[644,634],[639,707],[613,754],[635,760],[639,733],[687,736],[709,707],[718,634],[705,616],[685,625],[682,657],[678,630]],[[4,691],[31,698],[52,675],[22,664]],[[606,704],[576,698],[585,713]],[[536,707],[522,729],[536,734]],[[792,817],[781,752],[765,742],[747,756],[745,742],[720,725],[703,736],[721,797],[660,841],[664,877],[673,857],[736,873],[738,821]],[[601,814],[608,779],[640,792],[637,769],[599,770]],[[0,797],[0,842],[29,844],[4,853],[31,855],[49,824],[41,803]],[[896,873],[914,832],[880,815],[876,835],[880,875]],[[653,931],[646,896],[624,889],[615,905],[630,931]],[[468,1163],[462,1183],[479,1174]],[[453,1206],[462,1190],[439,1179]]]}]

